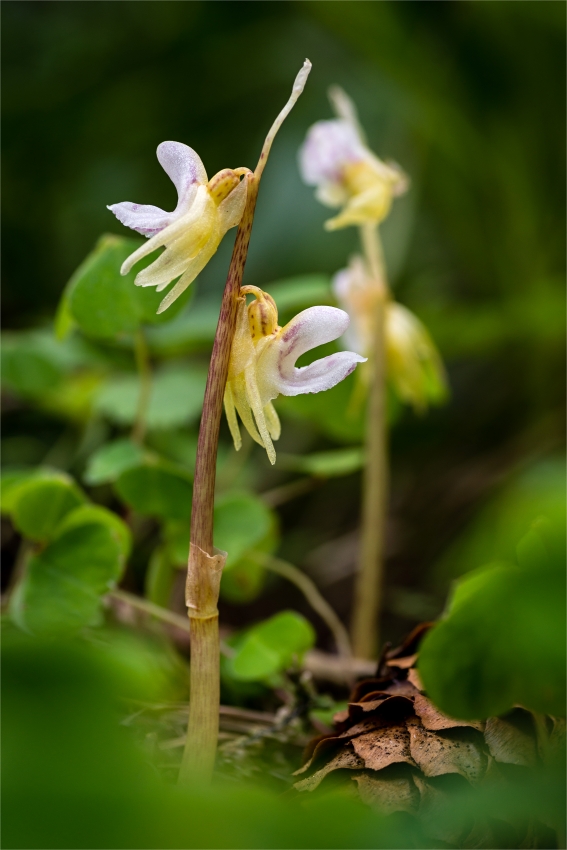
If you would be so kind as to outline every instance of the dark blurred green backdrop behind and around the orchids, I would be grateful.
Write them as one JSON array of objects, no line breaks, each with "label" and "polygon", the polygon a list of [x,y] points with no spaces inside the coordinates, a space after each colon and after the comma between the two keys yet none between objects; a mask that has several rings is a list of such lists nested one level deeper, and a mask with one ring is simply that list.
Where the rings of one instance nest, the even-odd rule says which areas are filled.
[{"label": "dark blurred green backdrop behind and around the orchids", "polygon": [[[383,228],[386,257],[396,297],[439,345],[452,397],[393,431],[389,605],[401,621],[390,628],[435,613],[445,586],[431,596],[434,567],[469,520],[562,445],[564,4],[7,0],[2,18],[6,328],[51,322],[99,235],[124,232],[106,204],[173,208],[159,142],[190,144],[209,175],[253,168],[306,56],[313,71],[266,170],[247,283],[333,273],[356,248],[354,229],[323,230],[328,212],[296,165],[307,128],[330,117],[330,84],[358,104],[371,147],[411,175]],[[218,297],[232,238],[199,298]],[[8,436],[46,433],[47,450],[58,426],[18,416]],[[355,475],[287,505],[284,554],[302,565],[342,535],[352,560],[359,489]],[[346,616],[344,581],[333,587]]]}]

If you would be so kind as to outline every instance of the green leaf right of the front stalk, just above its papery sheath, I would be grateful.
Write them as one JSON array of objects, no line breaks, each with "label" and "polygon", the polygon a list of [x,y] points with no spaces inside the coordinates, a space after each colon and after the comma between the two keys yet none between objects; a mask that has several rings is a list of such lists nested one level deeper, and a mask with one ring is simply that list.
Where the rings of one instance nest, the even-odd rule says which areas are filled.
[{"label": "green leaf right of the front stalk, just above its papery sheath", "polygon": [[251,493],[231,494],[215,505],[215,546],[228,553],[224,572],[270,532],[272,511]]}]

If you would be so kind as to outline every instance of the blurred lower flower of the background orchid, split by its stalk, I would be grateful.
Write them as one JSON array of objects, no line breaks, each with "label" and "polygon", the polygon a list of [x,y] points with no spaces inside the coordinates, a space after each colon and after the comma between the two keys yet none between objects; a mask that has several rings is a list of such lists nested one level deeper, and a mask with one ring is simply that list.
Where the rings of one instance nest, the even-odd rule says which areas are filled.
[{"label": "blurred lower flower of the background orchid, split by its stalk", "polygon": [[[382,289],[366,270],[362,257],[333,278],[333,291],[351,324],[345,342],[368,356],[374,334],[374,309]],[[388,378],[396,394],[416,412],[447,395],[443,362],[426,327],[407,307],[388,298],[385,305],[385,347]]]}]

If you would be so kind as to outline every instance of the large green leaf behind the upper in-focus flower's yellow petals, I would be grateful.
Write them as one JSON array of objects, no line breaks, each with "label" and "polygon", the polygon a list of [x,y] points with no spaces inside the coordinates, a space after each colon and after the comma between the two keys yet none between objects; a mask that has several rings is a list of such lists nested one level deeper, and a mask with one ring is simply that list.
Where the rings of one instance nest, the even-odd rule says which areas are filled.
[{"label": "large green leaf behind the upper in-focus flower's yellow petals", "polygon": [[168,321],[182,309],[191,297],[189,292],[173,308],[158,315],[163,294],[153,287],[134,284],[136,274],[150,265],[157,254],[140,261],[127,275],[120,274],[124,260],[141,244],[138,239],[101,237],[67,284],[58,312],[58,334],[69,329],[72,317],[87,335],[112,339],[134,333],[143,323]]}]

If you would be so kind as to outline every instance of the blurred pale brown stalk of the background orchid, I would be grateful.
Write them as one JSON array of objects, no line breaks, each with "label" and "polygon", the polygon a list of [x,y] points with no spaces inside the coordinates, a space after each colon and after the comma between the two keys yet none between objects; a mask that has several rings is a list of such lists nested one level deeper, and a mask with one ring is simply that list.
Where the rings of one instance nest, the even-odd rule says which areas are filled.
[{"label": "blurred pale brown stalk of the background orchid", "polygon": [[363,479],[362,529],[354,591],[352,646],[358,658],[373,658],[380,642],[380,610],[384,571],[384,539],[388,500],[386,423],[385,313],[386,272],[378,227],[365,224],[361,241],[368,270],[377,284],[373,349],[369,352],[370,386],[366,424],[366,466]]}]

